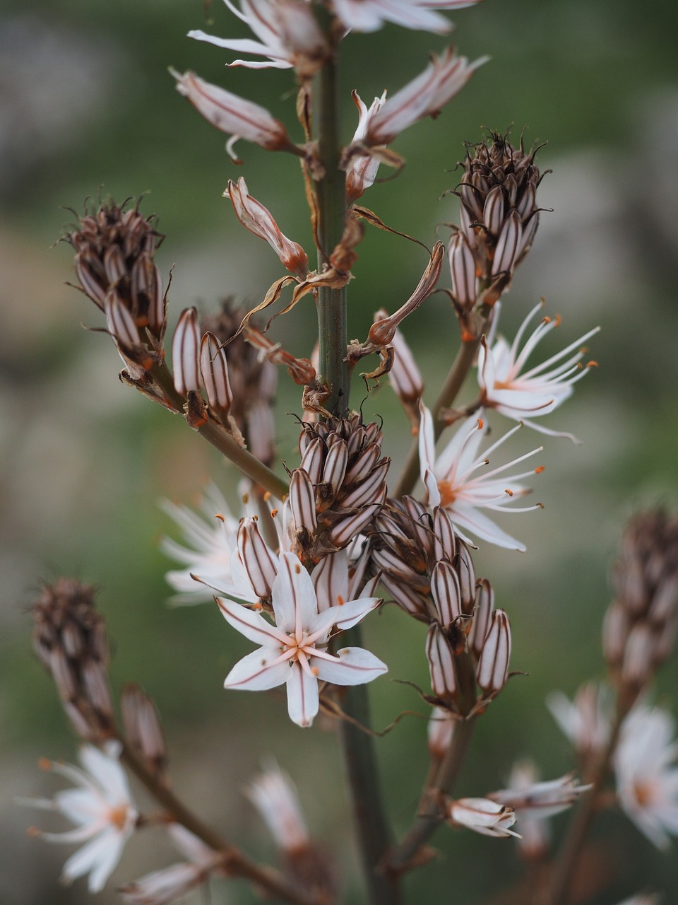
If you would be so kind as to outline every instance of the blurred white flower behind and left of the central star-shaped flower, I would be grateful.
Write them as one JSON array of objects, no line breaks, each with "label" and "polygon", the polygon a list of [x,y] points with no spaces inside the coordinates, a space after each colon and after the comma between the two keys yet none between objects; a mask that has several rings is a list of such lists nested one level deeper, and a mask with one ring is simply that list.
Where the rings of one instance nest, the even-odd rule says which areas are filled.
[{"label": "blurred white flower behind and left of the central star-shaped flower", "polygon": [[[186,565],[165,575],[167,583],[178,592],[172,597],[172,603],[199,604],[213,600],[209,586],[223,588],[231,584],[231,556],[237,546],[238,521],[231,515],[228,503],[219,488],[211,484],[200,506],[204,518],[170,500],[161,500],[160,506],[184,531],[190,545],[183,547],[172,538],[163,538],[160,544],[165,556]],[[200,576],[201,581],[193,575]]]}]

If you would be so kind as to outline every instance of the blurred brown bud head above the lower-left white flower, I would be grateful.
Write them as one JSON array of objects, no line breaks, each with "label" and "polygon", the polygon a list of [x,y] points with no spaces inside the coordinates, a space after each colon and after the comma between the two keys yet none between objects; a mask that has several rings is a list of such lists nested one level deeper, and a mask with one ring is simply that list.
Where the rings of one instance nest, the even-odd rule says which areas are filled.
[{"label": "blurred brown bud head above the lower-left white flower", "polygon": [[73,578],[45,585],[33,606],[33,646],[52,678],[81,738],[114,734],[108,687],[108,639],[94,608],[94,588]]}]

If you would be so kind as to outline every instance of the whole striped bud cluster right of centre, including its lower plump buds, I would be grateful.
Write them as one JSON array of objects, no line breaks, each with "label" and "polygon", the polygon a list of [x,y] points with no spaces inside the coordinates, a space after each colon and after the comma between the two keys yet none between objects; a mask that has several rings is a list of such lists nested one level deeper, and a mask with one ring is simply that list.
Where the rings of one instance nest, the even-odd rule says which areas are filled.
[{"label": "whole striped bud cluster right of centre, including its lower plump buds", "polygon": [[487,579],[476,582],[447,510],[436,506],[431,514],[408,496],[389,500],[372,542],[372,571],[381,573],[382,586],[428,624],[431,703],[462,716],[482,710],[508,679],[511,628],[504,610],[494,609]]}]

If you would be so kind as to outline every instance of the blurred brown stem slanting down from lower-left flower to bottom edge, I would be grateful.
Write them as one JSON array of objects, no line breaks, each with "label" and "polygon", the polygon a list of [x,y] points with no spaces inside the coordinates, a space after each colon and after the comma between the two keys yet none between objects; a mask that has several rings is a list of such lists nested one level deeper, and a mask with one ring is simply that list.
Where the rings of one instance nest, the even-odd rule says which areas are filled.
[{"label": "blurred brown stem slanting down from lower-left flower to bottom edge", "polygon": [[250,861],[250,858],[241,853],[240,849],[227,843],[211,827],[203,824],[202,820],[174,795],[172,789],[146,767],[143,760],[137,757],[137,754],[128,745],[124,745],[120,759],[146,786],[158,804],[172,814],[177,823],[185,826],[193,835],[202,839],[203,843],[209,845],[214,852],[223,856],[221,866],[226,872],[254,883],[259,889],[265,890],[269,896],[290,902],[291,905],[318,905],[318,900],[314,896],[300,890],[283,874],[274,868]]}]

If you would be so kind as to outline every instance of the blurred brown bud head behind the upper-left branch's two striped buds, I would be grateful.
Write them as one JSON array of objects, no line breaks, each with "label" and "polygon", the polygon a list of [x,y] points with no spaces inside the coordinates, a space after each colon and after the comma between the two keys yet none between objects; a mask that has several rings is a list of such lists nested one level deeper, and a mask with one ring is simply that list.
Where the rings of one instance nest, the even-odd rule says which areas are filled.
[{"label": "blurred brown bud head behind the upper-left branch's two striped buds", "polygon": [[[259,352],[242,334],[235,336],[248,310],[231,299],[222,302],[219,314],[201,321],[201,334],[210,331],[226,353],[231,384],[229,414],[260,462],[270,465],[276,458],[275,426],[271,406],[276,395],[278,372],[275,365],[261,360]],[[235,337],[235,338],[233,338]]]}]

